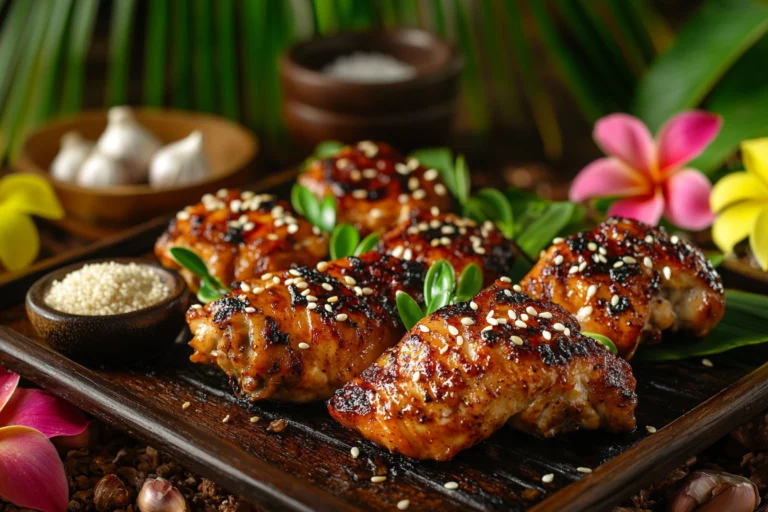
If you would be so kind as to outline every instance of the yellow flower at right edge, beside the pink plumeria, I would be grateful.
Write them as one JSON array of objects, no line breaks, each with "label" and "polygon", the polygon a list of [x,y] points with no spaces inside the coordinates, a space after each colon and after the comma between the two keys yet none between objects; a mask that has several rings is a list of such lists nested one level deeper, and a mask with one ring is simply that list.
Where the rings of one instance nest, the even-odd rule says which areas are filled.
[{"label": "yellow flower at right edge, beside the pink plumeria", "polygon": [[768,137],[741,143],[746,172],[717,182],[710,205],[717,214],[712,238],[725,253],[749,237],[760,267],[768,271]]}]

